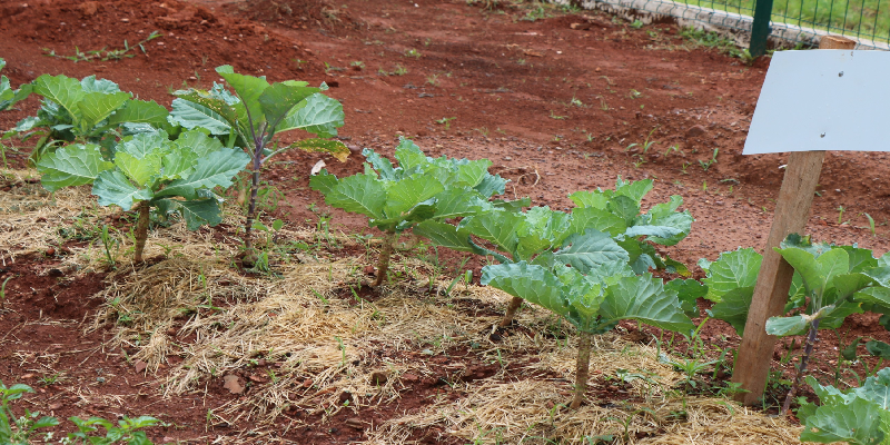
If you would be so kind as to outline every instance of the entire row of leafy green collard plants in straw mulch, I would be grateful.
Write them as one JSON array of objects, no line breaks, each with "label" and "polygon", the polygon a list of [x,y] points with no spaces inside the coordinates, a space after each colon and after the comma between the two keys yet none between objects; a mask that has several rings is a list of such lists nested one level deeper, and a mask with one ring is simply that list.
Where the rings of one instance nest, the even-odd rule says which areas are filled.
[{"label": "entire row of leafy green collard plants in straw mulch", "polygon": [[[96,77],[77,80],[44,75],[19,89],[12,89],[3,77],[0,110],[29,95],[42,98],[37,116],[22,120],[3,137],[36,140],[29,161],[47,190],[91,185],[100,206],[134,211],[137,264],[145,259],[152,220],[181,218],[191,230],[221,222],[227,189],[246,170],[250,187],[240,260],[247,271],[264,270],[269,267],[268,254],[251,243],[254,230],[268,230],[256,204],[263,166],[289,149],[326,152],[345,160],[349,149],[334,138],[344,123],[343,106],[324,95],[324,83],[318,88],[300,81],[269,83],[265,78],[236,73],[229,66],[216,71],[225,86],[176,91],[171,110],[135,99],[116,83]],[[290,130],[303,130],[310,138],[291,145],[275,139]],[[742,334],[761,255],[740,248],[713,263],[702,259],[699,266],[706,277],[701,281],[690,278],[686,266],[660,254],[657,246],[684,239],[693,216],[680,210],[680,196],[643,211],[652,179],[619,178],[614,189],[575,191],[570,195],[575,207],[561,211],[532,206],[528,198],[498,198],[507,180],[490,174],[492,162],[486,159],[432,158],[406,138],[395,149],[395,164],[370,149],[362,155],[363,174],[337,178],[322,170],[312,178],[310,187],[320,191],[329,206],[364,215],[370,227],[383,233],[376,279],[369,286],[392,279],[390,256],[403,234],[487,258],[479,283],[513,297],[500,327],[510,328],[527,301],[577,329],[576,377],[568,402],[573,409],[585,403],[593,338],[621,320],[694,338],[698,329],[714,318]],[[771,318],[767,332],[805,335],[784,414],[798,402],[794,397],[820,330],[837,329],[846,317],[862,312],[887,314],[881,324],[890,327],[890,258],[801,235],[790,236],[778,251],[795,274],[785,315]],[[706,314],[699,313],[700,298],[713,301]],[[696,326],[690,317],[700,316],[703,320]],[[859,339],[844,350],[848,359],[856,359],[858,346]],[[866,347],[880,359],[890,357],[888,344],[872,340]],[[807,377],[819,404],[798,403],[797,417],[805,425],[801,439],[890,443],[890,370],[878,368],[868,373],[861,386],[849,389],[822,386]],[[30,388],[2,388],[0,439],[27,443],[39,428],[58,423],[36,415],[16,421],[8,402]],[[71,441],[87,441],[89,434],[96,434],[96,426],[103,426],[108,442],[90,443],[122,438],[150,443],[145,434],[132,433],[152,424],[147,417],[121,421],[119,427],[100,419],[91,419],[89,425],[82,422],[75,421],[80,433],[71,434]]]}]

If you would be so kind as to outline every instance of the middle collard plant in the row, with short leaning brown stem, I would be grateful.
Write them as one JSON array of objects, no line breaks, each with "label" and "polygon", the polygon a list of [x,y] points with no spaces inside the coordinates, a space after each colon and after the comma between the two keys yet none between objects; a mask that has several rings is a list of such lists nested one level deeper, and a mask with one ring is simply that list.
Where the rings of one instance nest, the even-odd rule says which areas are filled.
[{"label": "middle collard plant in the row, with short leaning brown stem", "polygon": [[[389,257],[405,230],[423,221],[484,214],[501,205],[488,198],[503,194],[506,180],[488,172],[492,162],[487,159],[431,158],[404,138],[395,150],[398,167],[370,149],[363,155],[367,160],[364,174],[338,179],[322,170],[309,186],[320,191],[329,206],[365,215],[369,226],[384,233],[372,286],[383,284]],[[454,226],[442,224],[454,231]],[[431,230],[427,235],[435,236],[435,229]]]}]

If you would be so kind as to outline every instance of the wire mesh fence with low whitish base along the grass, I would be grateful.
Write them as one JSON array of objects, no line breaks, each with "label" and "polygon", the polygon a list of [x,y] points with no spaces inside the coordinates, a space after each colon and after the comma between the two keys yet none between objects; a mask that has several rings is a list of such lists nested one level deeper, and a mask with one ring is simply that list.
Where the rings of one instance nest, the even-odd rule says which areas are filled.
[{"label": "wire mesh fence with low whitish base along the grass", "polygon": [[[570,0],[555,0],[568,2]],[[857,49],[890,50],[890,0],[581,0],[587,9],[647,11],[681,24],[741,31],[751,52],[762,53],[767,36],[784,46],[817,46],[824,34],[842,34]]]}]

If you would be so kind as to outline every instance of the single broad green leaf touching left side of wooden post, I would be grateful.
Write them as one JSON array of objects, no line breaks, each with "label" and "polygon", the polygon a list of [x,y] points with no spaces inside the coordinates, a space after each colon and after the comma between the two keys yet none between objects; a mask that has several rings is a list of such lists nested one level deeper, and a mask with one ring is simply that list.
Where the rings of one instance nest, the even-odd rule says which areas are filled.
[{"label": "single broad green leaf touching left side of wooden post", "polygon": [[752,248],[724,251],[708,268],[708,277],[702,279],[708,286],[705,298],[720,301],[724,294],[740,288],[753,287],[763,257]]}]

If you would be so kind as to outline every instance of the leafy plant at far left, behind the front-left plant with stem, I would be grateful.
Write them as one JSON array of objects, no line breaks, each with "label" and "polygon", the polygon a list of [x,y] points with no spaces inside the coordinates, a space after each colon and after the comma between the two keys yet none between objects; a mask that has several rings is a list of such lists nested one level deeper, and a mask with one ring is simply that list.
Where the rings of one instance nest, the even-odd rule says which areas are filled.
[{"label": "leafy plant at far left, behind the front-left plant with stem", "polygon": [[12,130],[21,138],[40,137],[31,151],[31,164],[68,142],[95,144],[106,156],[121,135],[164,129],[176,132],[167,121],[167,109],[155,101],[131,99],[117,83],[89,76],[82,80],[43,75],[31,82],[42,96],[37,116],[21,120]]}]

